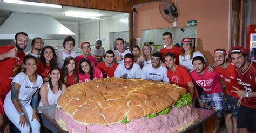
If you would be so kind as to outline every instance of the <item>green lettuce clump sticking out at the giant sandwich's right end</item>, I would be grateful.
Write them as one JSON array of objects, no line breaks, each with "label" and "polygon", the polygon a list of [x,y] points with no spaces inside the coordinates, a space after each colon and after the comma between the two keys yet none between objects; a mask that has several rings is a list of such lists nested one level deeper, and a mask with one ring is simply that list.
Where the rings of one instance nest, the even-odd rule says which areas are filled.
[{"label": "green lettuce clump sticking out at the giant sandwich's right end", "polygon": [[174,104],[174,107],[177,108],[182,108],[186,105],[190,105],[192,102],[192,97],[190,94],[186,93],[186,94],[181,94],[180,98],[178,99],[178,101]]}]

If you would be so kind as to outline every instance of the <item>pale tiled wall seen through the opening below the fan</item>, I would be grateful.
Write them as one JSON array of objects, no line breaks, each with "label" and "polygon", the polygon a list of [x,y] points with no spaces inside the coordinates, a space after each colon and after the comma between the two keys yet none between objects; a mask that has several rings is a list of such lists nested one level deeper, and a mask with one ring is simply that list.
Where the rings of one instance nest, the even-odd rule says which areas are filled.
[{"label": "pale tiled wall seen through the opening below the fan", "polygon": [[[142,31],[142,42],[154,42],[154,45],[159,45],[157,50],[163,48],[163,37],[164,32],[171,32],[173,38],[173,45],[176,43],[181,44],[181,39],[184,37],[197,38],[197,27],[177,27],[177,28],[164,28],[164,29],[152,29]],[[197,41],[196,41],[197,42]]]}]

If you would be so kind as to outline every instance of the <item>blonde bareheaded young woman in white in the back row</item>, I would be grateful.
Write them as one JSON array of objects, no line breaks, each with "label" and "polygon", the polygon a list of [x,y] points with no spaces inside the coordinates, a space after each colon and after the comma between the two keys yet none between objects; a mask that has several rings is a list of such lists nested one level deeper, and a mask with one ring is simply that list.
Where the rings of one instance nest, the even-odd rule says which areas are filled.
[{"label": "blonde bareheaded young woman in white in the back row", "polygon": [[153,54],[152,47],[149,43],[144,43],[142,46],[143,55],[138,58],[138,63],[143,66],[146,64],[151,64],[151,57]]}]

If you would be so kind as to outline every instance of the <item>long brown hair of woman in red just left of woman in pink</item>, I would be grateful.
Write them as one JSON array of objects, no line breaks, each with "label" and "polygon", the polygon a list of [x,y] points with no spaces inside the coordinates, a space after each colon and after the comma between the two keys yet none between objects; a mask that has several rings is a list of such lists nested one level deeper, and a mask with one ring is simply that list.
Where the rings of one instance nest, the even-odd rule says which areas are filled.
[{"label": "long brown hair of woman in red just left of woman in pink", "polygon": [[[74,60],[74,62],[75,62],[75,59],[73,57],[71,57],[71,56],[66,57],[64,62],[63,62],[62,69],[61,69],[62,82],[64,84],[66,84],[66,86],[68,86],[68,78],[66,76],[69,75],[69,71],[68,71],[68,68],[66,67],[66,65],[68,65],[71,60]],[[75,66],[75,69],[73,70],[73,75],[74,75],[73,84],[76,84],[78,82],[78,73],[77,72],[78,72],[78,69]]]}]

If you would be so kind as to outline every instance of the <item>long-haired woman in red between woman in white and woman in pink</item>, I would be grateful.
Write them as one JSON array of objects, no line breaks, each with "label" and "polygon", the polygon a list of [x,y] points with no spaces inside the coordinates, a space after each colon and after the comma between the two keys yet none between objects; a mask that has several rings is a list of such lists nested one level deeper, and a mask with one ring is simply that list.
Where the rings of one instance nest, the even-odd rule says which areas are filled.
[{"label": "long-haired woman in red between woman in white and woman in pink", "polygon": [[66,57],[62,66],[62,83],[69,87],[78,83],[78,69],[73,57]]}]

